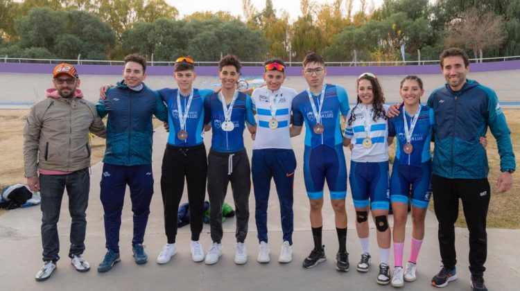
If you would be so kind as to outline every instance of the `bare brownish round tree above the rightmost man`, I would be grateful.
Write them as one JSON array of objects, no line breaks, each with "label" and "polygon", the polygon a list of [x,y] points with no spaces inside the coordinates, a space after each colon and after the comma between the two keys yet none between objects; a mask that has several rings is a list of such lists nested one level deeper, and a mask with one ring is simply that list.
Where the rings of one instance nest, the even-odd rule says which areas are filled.
[{"label": "bare brownish round tree above the rightmost man", "polygon": [[502,29],[503,19],[493,12],[480,12],[476,8],[469,8],[462,13],[460,19],[452,21],[451,37],[447,40],[449,46],[461,45],[470,48],[475,58],[482,58],[485,48],[492,48],[502,44],[505,39]]}]

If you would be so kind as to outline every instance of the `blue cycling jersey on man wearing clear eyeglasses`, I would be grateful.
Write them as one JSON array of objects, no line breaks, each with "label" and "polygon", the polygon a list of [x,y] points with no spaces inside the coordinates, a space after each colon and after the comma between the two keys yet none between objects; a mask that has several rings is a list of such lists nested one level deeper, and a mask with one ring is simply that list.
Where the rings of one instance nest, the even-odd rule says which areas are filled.
[{"label": "blue cycling jersey on man wearing clear eyeglasses", "polygon": [[[318,95],[312,94],[316,109],[318,109],[318,97],[320,95],[321,93]],[[347,91],[340,86],[326,85],[321,111],[324,132],[315,134],[313,127],[316,124],[316,118],[311,107],[309,94],[307,91],[302,91],[293,100],[293,125],[302,126],[305,121],[305,145],[311,148],[316,148],[319,145],[328,145],[334,148],[335,145],[343,143],[340,112],[343,116],[347,116],[349,109]]]}]

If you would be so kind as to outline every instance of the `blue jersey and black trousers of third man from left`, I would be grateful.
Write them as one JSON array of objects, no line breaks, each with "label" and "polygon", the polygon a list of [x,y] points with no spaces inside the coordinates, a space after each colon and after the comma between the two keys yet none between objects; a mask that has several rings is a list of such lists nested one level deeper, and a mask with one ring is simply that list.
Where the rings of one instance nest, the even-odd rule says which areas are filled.
[{"label": "blue jersey and black trousers of third man from left", "polygon": [[[199,240],[204,217],[206,195],[207,158],[202,139],[204,131],[204,101],[214,91],[196,89],[183,96],[178,89],[158,91],[168,106],[168,143],[162,159],[161,191],[164,205],[164,227],[168,244],[175,243],[177,235],[177,212],[184,191],[184,177],[188,185],[191,240]],[[191,102],[189,97],[191,97]],[[178,101],[177,102],[177,98]],[[180,107],[179,107],[180,105]],[[189,107],[184,126],[183,118]],[[184,130],[187,136],[182,136]]]}]

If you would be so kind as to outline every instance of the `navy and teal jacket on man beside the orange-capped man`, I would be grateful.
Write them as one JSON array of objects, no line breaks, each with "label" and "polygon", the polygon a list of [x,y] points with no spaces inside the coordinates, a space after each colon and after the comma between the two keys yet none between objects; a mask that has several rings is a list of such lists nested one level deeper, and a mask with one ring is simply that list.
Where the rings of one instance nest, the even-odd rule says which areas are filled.
[{"label": "navy and teal jacket on man beside the orange-capped man", "polygon": [[156,91],[144,83],[143,89],[134,91],[121,81],[107,91],[105,100],[98,100],[96,109],[101,117],[108,114],[103,163],[119,166],[152,163],[152,116],[160,121],[168,118],[168,109]]}]

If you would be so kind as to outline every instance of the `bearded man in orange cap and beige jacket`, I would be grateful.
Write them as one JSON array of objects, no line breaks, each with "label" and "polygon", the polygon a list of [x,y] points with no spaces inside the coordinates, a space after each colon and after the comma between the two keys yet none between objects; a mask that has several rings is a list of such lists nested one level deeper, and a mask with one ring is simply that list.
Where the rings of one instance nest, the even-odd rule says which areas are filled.
[{"label": "bearded man in orange cap and beige jacket", "polygon": [[31,191],[40,191],[42,195],[44,265],[36,274],[36,281],[49,279],[60,259],[57,224],[65,188],[72,218],[69,258],[78,272],[90,270],[81,256],[85,251],[85,211],[90,186],[89,132],[106,136],[96,107],[84,100],[78,89],[80,80],[71,64],[54,68],[53,85],[45,92],[47,98],[33,106],[24,127],[27,184]]}]

